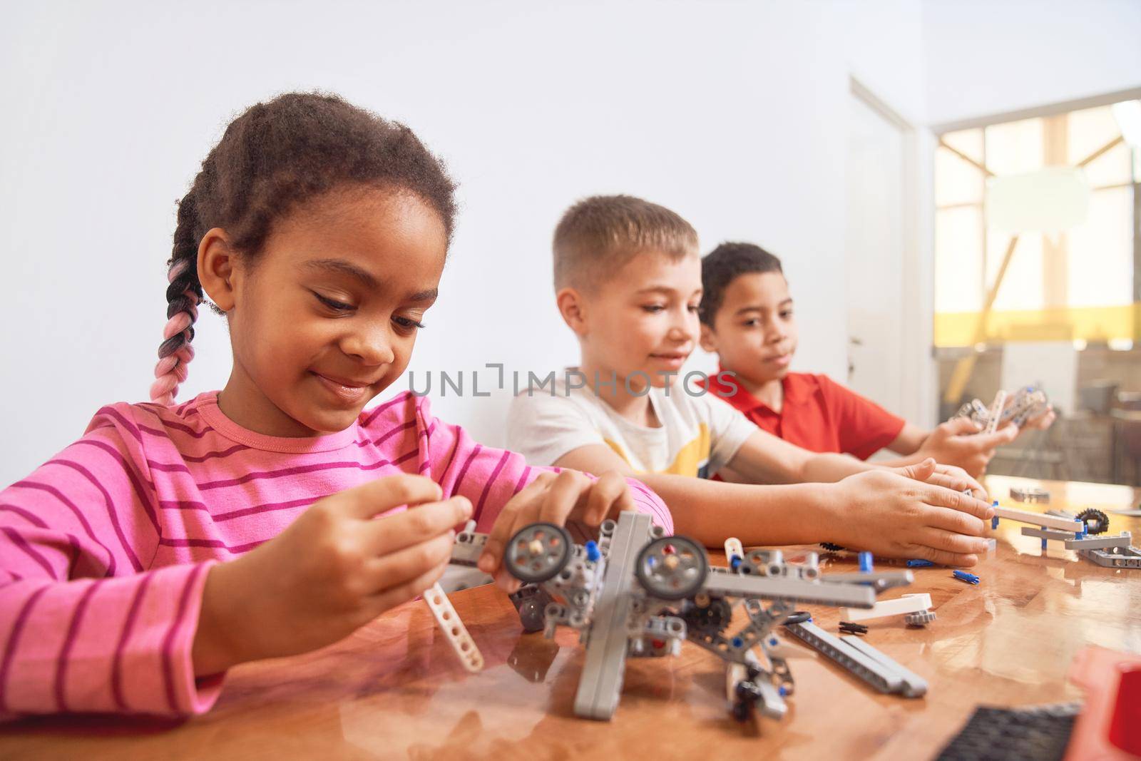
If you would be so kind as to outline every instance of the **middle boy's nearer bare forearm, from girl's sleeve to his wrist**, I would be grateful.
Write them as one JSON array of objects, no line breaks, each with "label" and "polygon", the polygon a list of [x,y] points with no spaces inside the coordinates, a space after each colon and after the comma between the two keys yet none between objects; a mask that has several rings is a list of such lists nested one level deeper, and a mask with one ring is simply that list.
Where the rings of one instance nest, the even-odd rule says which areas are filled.
[{"label": "middle boy's nearer bare forearm, from girl's sleeve to his wrist", "polygon": [[745,545],[831,541],[836,513],[832,486],[727,484],[669,473],[640,473],[673,513],[674,531],[707,547],[729,536]]}]

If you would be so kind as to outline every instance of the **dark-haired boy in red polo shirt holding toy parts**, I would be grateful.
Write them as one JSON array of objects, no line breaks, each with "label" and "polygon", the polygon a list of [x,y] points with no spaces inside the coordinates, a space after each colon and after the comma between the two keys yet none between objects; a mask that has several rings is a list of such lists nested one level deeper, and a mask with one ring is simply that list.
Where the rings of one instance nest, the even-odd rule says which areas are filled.
[{"label": "dark-haired boy in red polo shirt holding toy parts", "polygon": [[[980,434],[965,418],[925,430],[827,375],[788,372],[796,350],[792,297],[780,260],[758,245],[719,245],[702,260],[702,348],[719,355],[722,371],[709,389],[786,442],[861,460],[888,448],[905,455],[899,464],[934,458],[978,477],[995,447],[1019,434],[1014,426]],[[1027,426],[1045,428],[1053,418],[1047,411]]]}]

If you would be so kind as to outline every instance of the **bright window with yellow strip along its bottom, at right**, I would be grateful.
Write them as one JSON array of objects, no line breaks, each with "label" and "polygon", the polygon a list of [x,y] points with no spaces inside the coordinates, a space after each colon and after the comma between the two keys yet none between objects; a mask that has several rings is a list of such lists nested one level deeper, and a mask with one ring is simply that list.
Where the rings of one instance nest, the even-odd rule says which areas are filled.
[{"label": "bright window with yellow strip along its bottom, at right", "polygon": [[[1123,114],[1134,108],[1141,112],[1141,103],[940,136],[934,167],[937,347],[1008,341],[1123,346],[1141,338],[1134,305],[1141,291],[1134,272],[1141,161],[1134,154],[1141,151],[1123,137]],[[1017,211],[1010,224],[1012,212],[1003,202],[1013,194],[1017,203],[1019,193],[1042,194],[1033,201],[1046,213],[1041,224],[1020,222]],[[1076,194],[1073,203],[1060,199],[1067,193]],[[1043,209],[1063,201],[1065,209]],[[1060,227],[1045,229],[1052,220]],[[987,309],[1008,250],[1009,262]]]}]

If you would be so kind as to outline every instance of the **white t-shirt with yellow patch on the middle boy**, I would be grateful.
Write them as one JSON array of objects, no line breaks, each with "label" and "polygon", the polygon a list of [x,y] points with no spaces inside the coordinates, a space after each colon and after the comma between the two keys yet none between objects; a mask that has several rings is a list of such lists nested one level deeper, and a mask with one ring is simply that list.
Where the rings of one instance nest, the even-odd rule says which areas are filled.
[{"label": "white t-shirt with yellow patch on the middle boy", "polygon": [[[574,377],[575,369],[568,369]],[[709,478],[723,468],[756,426],[710,394],[691,396],[680,383],[650,388],[661,428],[621,416],[589,387],[569,388],[566,375],[552,384],[520,391],[507,418],[507,446],[533,465],[552,465],[588,444],[606,444],[636,472]],[[696,387],[691,387],[697,390]]]}]

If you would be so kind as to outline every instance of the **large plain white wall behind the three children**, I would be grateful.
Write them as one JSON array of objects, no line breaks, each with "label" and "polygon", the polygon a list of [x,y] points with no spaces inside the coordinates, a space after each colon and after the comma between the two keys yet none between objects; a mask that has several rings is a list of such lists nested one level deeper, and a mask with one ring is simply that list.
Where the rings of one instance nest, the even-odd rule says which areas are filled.
[{"label": "large plain white wall behind the three children", "polygon": [[[626,192],[685,214],[704,250],[746,238],[778,252],[799,302],[798,366],[843,378],[848,75],[920,113],[915,8],[7,6],[0,413],[14,434],[0,444],[0,484],[76,438],[100,404],[145,398],[173,201],[233,114],[290,89],[335,90],[406,121],[461,183],[452,260],[413,370],[574,362],[552,305],[550,233],[575,199]],[[204,314],[199,325],[183,398],[221,387],[229,370],[224,322]],[[499,444],[504,404],[450,397],[436,408]]]}]

